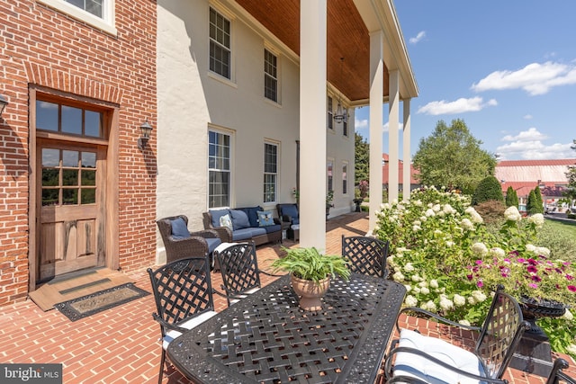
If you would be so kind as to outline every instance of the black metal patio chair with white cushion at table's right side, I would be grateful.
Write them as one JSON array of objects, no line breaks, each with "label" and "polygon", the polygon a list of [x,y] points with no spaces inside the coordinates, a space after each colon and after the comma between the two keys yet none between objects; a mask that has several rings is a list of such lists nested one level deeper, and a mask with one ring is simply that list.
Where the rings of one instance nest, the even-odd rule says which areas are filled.
[{"label": "black metal patio chair with white cushion at table's right side", "polygon": [[502,379],[520,337],[529,329],[516,299],[497,290],[482,327],[463,326],[420,308],[404,308],[402,312],[433,317],[450,326],[479,332],[473,351],[450,344],[437,337],[420,335],[417,331],[396,328],[400,340],[384,362],[387,382],[456,383],[485,382],[505,384]]}]

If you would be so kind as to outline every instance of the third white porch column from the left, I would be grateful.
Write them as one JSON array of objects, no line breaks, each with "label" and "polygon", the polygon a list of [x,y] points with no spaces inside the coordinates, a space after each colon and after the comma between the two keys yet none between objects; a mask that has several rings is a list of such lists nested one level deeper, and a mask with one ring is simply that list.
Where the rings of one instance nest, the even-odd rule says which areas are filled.
[{"label": "third white porch column from the left", "polygon": [[389,70],[390,96],[388,112],[388,201],[398,199],[398,129],[400,129],[400,71]]}]

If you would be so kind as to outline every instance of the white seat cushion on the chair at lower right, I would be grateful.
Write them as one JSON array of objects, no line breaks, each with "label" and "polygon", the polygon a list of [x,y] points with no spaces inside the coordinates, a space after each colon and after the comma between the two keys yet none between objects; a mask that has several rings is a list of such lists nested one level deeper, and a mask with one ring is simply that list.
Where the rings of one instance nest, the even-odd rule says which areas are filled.
[{"label": "white seat cushion on the chair at lower right", "polygon": [[[400,343],[397,346],[417,349],[462,371],[486,377],[482,364],[474,353],[436,337],[420,335],[418,332],[402,329]],[[479,382],[473,378],[461,376],[455,371],[446,370],[446,368],[414,353],[396,353],[393,373],[394,376],[410,376],[432,384],[478,384]]]}]

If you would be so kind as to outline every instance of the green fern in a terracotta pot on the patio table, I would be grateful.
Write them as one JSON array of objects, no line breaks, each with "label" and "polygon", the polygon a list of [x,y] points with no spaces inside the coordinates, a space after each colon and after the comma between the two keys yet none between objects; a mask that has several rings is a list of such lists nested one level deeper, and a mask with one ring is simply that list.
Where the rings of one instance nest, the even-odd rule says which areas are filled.
[{"label": "green fern in a terracotta pot on the patio table", "polygon": [[290,273],[293,290],[301,297],[300,307],[305,310],[320,310],[320,298],[329,288],[330,277],[350,278],[342,255],[322,255],[313,246],[283,249],[286,255],[275,260],[272,268]]}]

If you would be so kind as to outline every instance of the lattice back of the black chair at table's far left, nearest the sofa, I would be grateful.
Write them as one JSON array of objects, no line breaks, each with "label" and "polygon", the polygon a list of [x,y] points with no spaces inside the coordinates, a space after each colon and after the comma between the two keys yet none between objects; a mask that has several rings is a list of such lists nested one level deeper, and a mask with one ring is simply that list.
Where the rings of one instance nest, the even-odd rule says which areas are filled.
[{"label": "lattice back of the black chair at table's far left, nearest the sofa", "polygon": [[222,289],[226,291],[228,305],[232,299],[239,299],[258,290],[260,273],[254,243],[238,243],[214,252],[220,263]]}]

